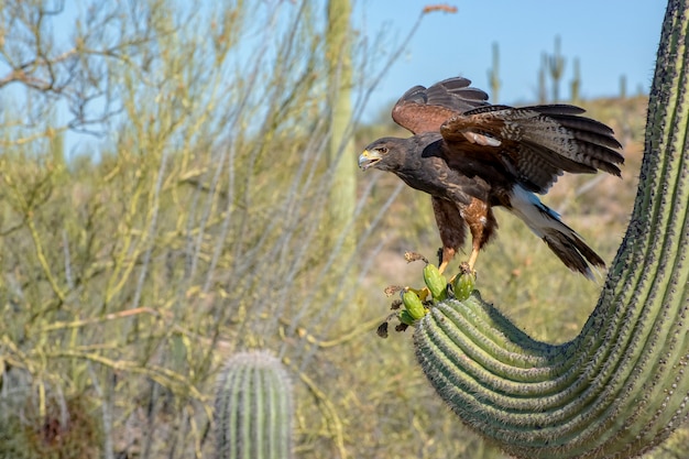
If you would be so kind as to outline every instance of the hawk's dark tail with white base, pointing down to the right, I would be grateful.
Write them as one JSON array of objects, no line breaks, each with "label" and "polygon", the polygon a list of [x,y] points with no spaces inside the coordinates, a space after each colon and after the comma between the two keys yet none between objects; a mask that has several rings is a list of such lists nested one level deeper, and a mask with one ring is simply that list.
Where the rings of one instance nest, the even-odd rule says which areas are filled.
[{"label": "hawk's dark tail with white base, pointing down to the right", "polygon": [[583,242],[575,230],[560,220],[560,216],[533,193],[515,185],[510,196],[513,214],[548,244],[548,248],[567,267],[593,280],[591,265],[605,267],[605,262]]}]

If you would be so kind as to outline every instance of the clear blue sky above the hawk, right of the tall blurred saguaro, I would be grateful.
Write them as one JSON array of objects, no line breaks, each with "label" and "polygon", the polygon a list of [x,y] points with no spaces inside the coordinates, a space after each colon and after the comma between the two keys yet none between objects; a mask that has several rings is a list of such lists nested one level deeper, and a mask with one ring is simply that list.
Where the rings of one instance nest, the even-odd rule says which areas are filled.
[{"label": "clear blue sky above the hawk, right of the tall blurred saguaro", "polygon": [[[354,26],[385,31],[402,40],[425,4],[435,1],[363,0],[356,7]],[[490,92],[488,69],[492,43],[500,46],[500,102],[529,103],[536,99],[542,53],[561,39],[566,57],[560,95],[569,97],[572,59],[581,67],[581,96],[616,96],[620,77],[627,94],[648,91],[653,79],[666,2],[658,0],[473,0],[448,1],[455,14],[427,14],[405,53],[371,96],[364,120],[380,113],[406,89],[461,75]]]}]

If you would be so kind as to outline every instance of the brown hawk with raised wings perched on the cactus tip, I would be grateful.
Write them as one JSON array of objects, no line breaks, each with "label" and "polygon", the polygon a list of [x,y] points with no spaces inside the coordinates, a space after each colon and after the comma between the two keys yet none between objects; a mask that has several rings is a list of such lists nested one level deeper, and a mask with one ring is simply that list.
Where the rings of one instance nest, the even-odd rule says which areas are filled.
[{"label": "brown hawk with raised wings perched on the cactus tip", "polygon": [[603,260],[536,194],[565,172],[620,176],[622,145],[608,125],[569,105],[507,107],[466,78],[415,86],[395,103],[392,118],[414,135],[383,138],[359,156],[359,167],[390,171],[431,197],[442,241],[440,271],[471,232],[469,266],[497,228],[503,206],[543,239],[567,267],[592,278]]}]

